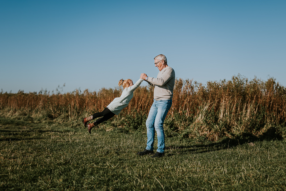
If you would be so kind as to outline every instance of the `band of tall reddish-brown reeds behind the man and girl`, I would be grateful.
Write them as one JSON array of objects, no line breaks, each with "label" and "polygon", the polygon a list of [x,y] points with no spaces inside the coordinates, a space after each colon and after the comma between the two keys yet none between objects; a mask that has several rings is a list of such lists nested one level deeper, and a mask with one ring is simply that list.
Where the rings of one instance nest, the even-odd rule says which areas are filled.
[{"label": "band of tall reddish-brown reeds behind the man and girl", "polygon": [[[65,94],[0,93],[0,116],[41,123],[54,120],[84,127],[82,118],[102,111],[122,92],[120,88],[98,92],[76,90]],[[120,115],[100,126],[106,130],[125,128],[145,131],[145,121],[153,102],[153,88],[142,86]],[[243,134],[257,137],[286,135],[286,88],[275,82],[241,75],[232,80],[202,85],[192,80],[176,80],[172,107],[164,128],[168,136],[200,137],[210,141]]]}]

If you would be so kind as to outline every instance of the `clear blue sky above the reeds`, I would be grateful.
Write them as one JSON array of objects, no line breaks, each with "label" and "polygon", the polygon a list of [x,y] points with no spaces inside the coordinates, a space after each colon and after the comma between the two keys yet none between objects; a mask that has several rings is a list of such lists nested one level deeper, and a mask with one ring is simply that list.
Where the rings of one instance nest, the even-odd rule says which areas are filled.
[{"label": "clear blue sky above the reeds", "polygon": [[[286,1],[0,1],[3,92],[98,91],[156,77],[286,86]],[[143,82],[142,85],[147,85]]]}]

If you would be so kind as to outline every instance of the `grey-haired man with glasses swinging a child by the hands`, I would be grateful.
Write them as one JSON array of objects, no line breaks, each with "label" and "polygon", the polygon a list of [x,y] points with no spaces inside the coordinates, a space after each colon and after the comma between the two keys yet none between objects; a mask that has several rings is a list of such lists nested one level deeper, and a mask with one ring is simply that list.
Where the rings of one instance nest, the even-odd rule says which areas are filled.
[{"label": "grey-haired man with glasses swinging a child by the hands", "polygon": [[155,130],[158,138],[157,152],[152,157],[164,156],[165,133],[164,120],[172,105],[173,89],[175,84],[175,71],[168,66],[167,58],[160,54],[154,58],[155,66],[159,69],[157,78],[148,77],[142,73],[140,78],[146,80],[154,88],[154,102],[150,108],[147,127],[147,147],[144,151],[138,152],[138,155],[153,154]]}]

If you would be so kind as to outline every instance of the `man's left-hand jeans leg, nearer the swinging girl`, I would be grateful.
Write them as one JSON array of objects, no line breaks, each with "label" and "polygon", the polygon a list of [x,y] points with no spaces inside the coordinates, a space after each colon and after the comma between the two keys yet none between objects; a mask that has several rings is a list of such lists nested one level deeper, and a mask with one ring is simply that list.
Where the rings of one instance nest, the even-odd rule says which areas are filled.
[{"label": "man's left-hand jeans leg, nearer the swinging girl", "polygon": [[155,100],[150,108],[148,118],[146,120],[146,128],[147,128],[147,147],[146,149],[149,151],[153,151],[154,147],[154,138],[155,138],[155,117],[157,114],[157,108],[155,107]]}]

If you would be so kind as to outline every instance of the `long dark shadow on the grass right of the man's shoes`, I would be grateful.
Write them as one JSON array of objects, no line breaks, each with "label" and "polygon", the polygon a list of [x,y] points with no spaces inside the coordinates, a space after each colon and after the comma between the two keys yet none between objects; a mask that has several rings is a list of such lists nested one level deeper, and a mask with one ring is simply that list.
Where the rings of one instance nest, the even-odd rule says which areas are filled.
[{"label": "long dark shadow on the grass right of the man's shoes", "polygon": [[[219,151],[223,149],[229,149],[233,147],[237,147],[239,145],[243,145],[245,143],[248,143],[249,145],[253,146],[254,143],[252,142],[257,142],[257,141],[275,141],[275,140],[282,140],[283,137],[280,135],[279,132],[275,129],[275,127],[269,128],[265,133],[263,133],[260,136],[255,136],[250,133],[243,133],[239,137],[235,138],[225,138],[221,141],[218,142],[211,142],[205,137],[203,140],[200,140],[202,143],[200,144],[194,144],[190,146],[171,146],[171,147],[166,147],[166,150],[168,149],[186,149],[184,151],[184,154],[188,154],[188,152],[194,152],[194,153],[205,153],[205,152],[210,152],[210,151]],[[171,156],[173,154],[168,154],[167,156]]]}]

